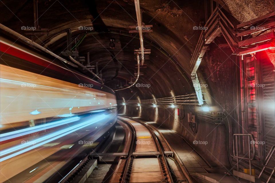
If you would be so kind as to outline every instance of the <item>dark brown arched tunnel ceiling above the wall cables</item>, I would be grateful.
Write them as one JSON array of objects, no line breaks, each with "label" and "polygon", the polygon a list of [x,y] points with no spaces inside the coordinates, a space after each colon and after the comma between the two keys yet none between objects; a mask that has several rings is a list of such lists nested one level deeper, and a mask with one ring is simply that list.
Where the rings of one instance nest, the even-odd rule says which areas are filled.
[{"label": "dark brown arched tunnel ceiling above the wall cables", "polygon": [[[1,2],[2,24],[21,34],[21,26],[34,25],[33,1]],[[232,1],[217,2],[237,14]],[[171,90],[175,95],[192,93],[189,62],[201,33],[193,26],[205,24],[205,1],[140,0],[140,6],[143,22],[153,25],[153,32],[144,34],[144,47],[151,49],[151,54],[145,60],[147,68],[140,70],[144,75],[138,83],[150,84],[150,88],[132,87],[122,90],[121,95],[128,94],[130,98],[137,92],[143,98],[151,98],[152,94],[158,98],[169,96]],[[67,47],[65,29],[72,30],[72,38],[80,38],[86,31],[79,30],[79,26],[93,27],[79,45],[79,55],[86,57],[90,52],[91,65],[99,63],[105,84],[112,89],[126,85],[134,77],[137,61],[133,50],[140,48],[140,41],[138,33],[128,32],[130,25],[136,25],[133,0],[38,0],[38,17],[38,24],[48,28],[49,34],[35,36],[36,43],[59,55]],[[115,49],[110,49],[110,39],[115,40]]]}]

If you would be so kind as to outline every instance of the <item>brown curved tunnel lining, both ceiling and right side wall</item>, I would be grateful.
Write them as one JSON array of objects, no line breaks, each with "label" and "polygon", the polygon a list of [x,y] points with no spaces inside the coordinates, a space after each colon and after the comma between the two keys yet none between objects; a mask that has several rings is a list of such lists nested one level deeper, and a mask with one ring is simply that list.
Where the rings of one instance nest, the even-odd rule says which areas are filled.
[{"label": "brown curved tunnel lining, both ceiling and right side wall", "polygon": [[[13,7],[13,1],[4,2],[8,7]],[[85,56],[86,52],[90,51],[91,63],[95,64],[96,62],[100,62],[102,65],[100,65],[100,69],[103,69],[103,67],[105,67],[104,65],[109,63],[108,66],[103,69],[103,77],[105,80],[111,80],[111,83],[118,83],[118,85],[120,83],[125,84],[125,80],[129,81],[136,70],[133,49],[139,48],[139,40],[132,40],[132,37],[125,37],[119,34],[114,35],[108,32],[121,31],[122,33],[128,34],[128,26],[135,25],[136,23],[134,5],[131,4],[130,1],[119,1],[119,3],[111,3],[112,1],[91,2],[92,3],[87,3],[87,1],[62,2],[68,11],[58,4],[58,2],[52,6],[48,2],[44,5],[39,4],[41,14],[47,11],[46,14],[40,18],[40,22],[42,22],[41,26],[48,26],[50,30],[49,35],[38,36],[35,41],[44,47],[48,47],[53,52],[60,53],[66,48],[65,29],[72,29],[72,37],[75,38],[85,33],[85,31],[78,29],[79,26],[93,26],[95,32],[99,33],[87,36],[85,41],[79,46],[80,55]],[[141,72],[144,72],[144,76],[142,76],[138,82],[150,84],[150,87],[132,87],[117,92],[117,100],[121,100],[122,97],[125,98],[126,101],[129,99],[136,100],[137,96],[141,100],[151,99],[152,95],[156,98],[169,97],[171,96],[171,91],[174,92],[175,96],[195,92],[190,80],[189,62],[200,34],[200,31],[194,31],[192,27],[203,25],[205,21],[205,15],[202,13],[205,7],[203,3],[200,2],[201,1],[188,1],[188,3],[186,3],[184,1],[175,1],[175,4],[182,8],[180,9],[174,4],[165,8],[165,4],[162,5],[156,1],[141,1],[141,6],[145,10],[143,21],[146,24],[153,25],[153,33],[145,34],[145,39],[149,41],[149,43],[146,43],[146,48],[151,49],[152,53],[150,55],[150,60],[145,61],[148,67],[146,69],[141,69]],[[233,12],[233,15],[237,15],[238,7],[236,7],[234,2],[235,1],[225,1],[224,8]],[[9,15],[9,17],[7,17],[8,21],[4,21],[4,25],[23,33],[20,27],[32,25],[32,19],[25,18],[32,17],[32,15],[30,15],[30,12],[19,10],[32,9],[32,3],[20,3],[18,9],[12,9],[12,11],[18,12],[16,16],[24,21],[19,21],[13,15],[10,16],[10,13],[7,13],[9,10],[6,10],[7,12],[3,11],[3,14]],[[224,5],[223,3],[221,4]],[[243,5],[239,1],[237,4],[240,5],[240,7],[245,7],[245,9],[248,7],[248,5]],[[104,11],[108,5],[110,5],[109,11]],[[49,8],[50,6],[51,8]],[[124,12],[122,7],[127,11],[129,16],[125,16],[127,13]],[[164,8],[163,11],[161,11],[162,8]],[[261,7],[259,9],[261,9]],[[55,21],[56,12],[59,12],[58,18],[62,21]],[[94,21],[99,13],[99,18]],[[2,17],[3,16],[1,16],[1,20]],[[192,20],[190,20],[190,17],[192,17]],[[11,25],[8,23],[10,20],[17,23]],[[241,18],[239,18],[239,20],[241,20]],[[106,31],[107,33],[101,34],[100,32],[102,31]],[[116,43],[118,49],[116,52],[126,46],[125,50],[117,55],[116,58],[112,58],[109,52],[111,51],[110,49],[108,49],[109,51],[105,49],[109,45],[109,39],[113,37],[120,41],[120,44]],[[151,46],[150,42],[161,51],[165,51],[168,57],[156,49],[156,47]],[[227,55],[230,55],[231,52],[225,50],[225,53],[221,52],[216,46],[210,48],[210,51],[207,53],[209,55],[204,58],[198,71],[201,73],[198,73],[198,75],[200,81],[207,79],[206,84],[208,84],[208,87],[205,90],[207,104],[211,105],[211,107],[214,106],[215,110],[226,110],[234,113],[236,104],[233,104],[233,94],[235,89],[232,87],[232,84],[236,81],[235,75],[237,68],[236,65],[232,64],[234,61],[233,57],[227,59]],[[172,57],[172,59],[170,59],[170,57]],[[116,61],[116,59],[121,63]],[[224,60],[226,60],[226,64],[221,64]],[[217,78],[221,79],[217,80]],[[110,87],[113,86],[110,84]],[[118,106],[118,109],[120,108],[121,106]],[[196,106],[181,106],[181,108],[184,109],[186,115],[189,112],[200,110],[196,108]],[[122,106],[119,113],[123,112],[121,111],[123,109],[124,107]],[[158,110],[157,118],[156,109]],[[192,144],[193,140],[207,139],[211,141],[211,143],[208,143],[206,146],[196,146],[194,144],[192,144],[192,146],[204,152],[206,158],[215,162],[215,164],[227,166],[229,163],[228,160],[224,158],[227,147],[225,145],[226,137],[223,126],[215,126],[199,120],[199,130],[198,133],[194,135],[188,125],[186,117],[183,120],[175,120],[175,110],[176,108],[172,109],[168,105],[160,104],[157,108],[153,108],[152,105],[142,105],[140,116],[149,121],[157,119],[156,122],[158,124],[175,130],[190,144]],[[138,111],[137,105],[126,104],[127,115],[138,116]],[[234,115],[235,114],[232,114],[232,117],[230,117],[230,122],[232,124],[235,123],[236,120],[236,116]],[[219,151],[215,149],[219,149]],[[208,150],[214,152],[214,154],[211,154]]]}]

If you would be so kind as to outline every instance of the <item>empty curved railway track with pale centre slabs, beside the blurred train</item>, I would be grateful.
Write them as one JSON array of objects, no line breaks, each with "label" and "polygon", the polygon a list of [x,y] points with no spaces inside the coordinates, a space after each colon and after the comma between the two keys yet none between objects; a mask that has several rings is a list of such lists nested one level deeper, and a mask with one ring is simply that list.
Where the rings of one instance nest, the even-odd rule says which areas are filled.
[{"label": "empty curved railway track with pale centre slabs, beside the blurred train", "polygon": [[133,138],[128,158],[119,162],[111,183],[186,182],[173,174],[168,162],[168,156],[173,156],[173,153],[152,128],[138,120],[122,116],[119,116],[119,120],[129,126]]}]

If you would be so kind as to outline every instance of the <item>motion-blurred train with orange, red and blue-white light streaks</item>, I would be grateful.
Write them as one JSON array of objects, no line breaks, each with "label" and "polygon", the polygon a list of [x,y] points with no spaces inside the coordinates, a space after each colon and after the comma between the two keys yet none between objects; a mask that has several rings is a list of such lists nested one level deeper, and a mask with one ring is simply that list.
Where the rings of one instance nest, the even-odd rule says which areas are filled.
[{"label": "motion-blurred train with orange, red and blue-white light streaks", "polygon": [[43,182],[115,124],[116,97],[13,33],[1,29],[0,182]]}]

